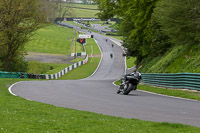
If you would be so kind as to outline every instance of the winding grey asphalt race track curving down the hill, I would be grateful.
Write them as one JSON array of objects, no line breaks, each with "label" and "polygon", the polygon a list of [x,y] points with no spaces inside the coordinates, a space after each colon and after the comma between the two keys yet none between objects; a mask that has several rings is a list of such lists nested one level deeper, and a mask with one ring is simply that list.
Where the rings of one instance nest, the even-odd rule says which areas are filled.
[{"label": "winding grey asphalt race track curving down the hill", "polygon": [[[77,30],[81,30],[75,27]],[[86,30],[82,30],[87,32]],[[102,50],[102,61],[92,76],[82,80],[20,82],[12,92],[25,99],[56,106],[141,120],[182,123],[200,127],[200,102],[135,91],[117,95],[112,84],[125,71],[122,49],[105,36],[92,33]],[[114,58],[110,58],[110,53]]]}]

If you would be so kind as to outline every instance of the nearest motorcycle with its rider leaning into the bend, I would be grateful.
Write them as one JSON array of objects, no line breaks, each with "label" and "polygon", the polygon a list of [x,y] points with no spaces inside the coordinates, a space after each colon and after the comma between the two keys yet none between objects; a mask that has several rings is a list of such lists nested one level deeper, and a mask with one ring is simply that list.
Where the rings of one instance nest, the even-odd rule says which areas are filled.
[{"label": "nearest motorcycle with its rider leaning into the bend", "polygon": [[121,79],[121,84],[117,94],[121,93],[123,95],[128,95],[132,90],[137,89],[137,85],[141,80],[140,72],[133,72],[126,74]]}]

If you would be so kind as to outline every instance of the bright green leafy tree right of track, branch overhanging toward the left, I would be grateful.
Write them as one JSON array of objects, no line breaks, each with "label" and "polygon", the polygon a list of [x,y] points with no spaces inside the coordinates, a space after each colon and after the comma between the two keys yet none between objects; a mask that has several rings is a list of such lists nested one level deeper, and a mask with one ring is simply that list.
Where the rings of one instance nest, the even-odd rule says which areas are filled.
[{"label": "bright green leafy tree right of track, branch overhanging toward the left", "polygon": [[[147,56],[157,56],[166,51],[170,44],[157,21],[152,19],[158,0],[97,0],[101,18],[118,16],[122,19],[120,32],[124,37],[124,46],[137,62]],[[156,34],[155,34],[156,33]],[[166,42],[159,42],[161,39]],[[164,48],[163,48],[164,47]]]}]

